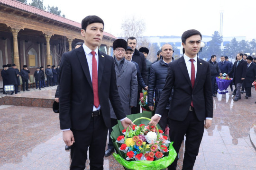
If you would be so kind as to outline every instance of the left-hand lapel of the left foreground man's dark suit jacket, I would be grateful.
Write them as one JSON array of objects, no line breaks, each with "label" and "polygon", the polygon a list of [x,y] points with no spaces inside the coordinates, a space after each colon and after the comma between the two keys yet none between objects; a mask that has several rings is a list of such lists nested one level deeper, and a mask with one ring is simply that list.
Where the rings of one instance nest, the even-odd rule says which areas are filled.
[{"label": "left-hand lapel of the left foreground man's dark suit jacket", "polygon": [[92,88],[91,75],[90,75],[90,71],[89,71],[89,67],[88,67],[88,62],[87,62],[86,55],[84,53],[84,50],[83,50],[82,46],[79,47],[78,51],[76,51],[76,54],[77,54],[77,57],[80,61],[81,66],[82,66],[83,73],[86,76],[86,79],[87,79],[89,85]]}]

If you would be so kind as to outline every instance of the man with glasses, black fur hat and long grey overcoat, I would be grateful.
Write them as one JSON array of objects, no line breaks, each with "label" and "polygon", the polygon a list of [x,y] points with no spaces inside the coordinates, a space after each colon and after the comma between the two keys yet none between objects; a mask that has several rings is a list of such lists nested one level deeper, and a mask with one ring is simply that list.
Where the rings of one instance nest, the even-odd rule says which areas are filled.
[{"label": "man with glasses, black fur hat and long grey overcoat", "polygon": [[[124,39],[117,39],[113,42],[114,65],[117,78],[118,92],[121,100],[121,106],[126,115],[131,114],[131,108],[136,107],[137,103],[137,69],[135,64],[125,59],[127,42]],[[114,152],[114,145],[110,138],[112,127],[118,121],[115,112],[110,103],[111,127],[109,128],[109,144],[105,156],[110,156]]]}]

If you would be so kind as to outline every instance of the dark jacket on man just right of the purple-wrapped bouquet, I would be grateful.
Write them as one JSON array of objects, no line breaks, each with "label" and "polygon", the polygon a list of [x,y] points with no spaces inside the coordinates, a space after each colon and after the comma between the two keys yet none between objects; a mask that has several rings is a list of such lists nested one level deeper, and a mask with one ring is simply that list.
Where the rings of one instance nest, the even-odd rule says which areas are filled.
[{"label": "dark jacket on man just right of the purple-wrapped bouquet", "polygon": [[242,59],[239,63],[238,61],[235,61],[228,75],[233,74],[233,78],[234,78],[233,82],[235,82],[235,84],[243,83],[242,78],[246,77],[246,69],[247,69],[247,62],[245,60]]}]

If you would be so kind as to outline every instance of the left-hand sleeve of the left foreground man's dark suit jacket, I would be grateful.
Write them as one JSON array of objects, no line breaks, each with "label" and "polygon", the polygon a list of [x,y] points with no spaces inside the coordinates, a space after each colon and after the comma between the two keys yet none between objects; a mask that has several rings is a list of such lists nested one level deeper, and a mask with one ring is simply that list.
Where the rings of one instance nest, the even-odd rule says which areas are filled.
[{"label": "left-hand sleeve of the left foreground man's dark suit jacket", "polygon": [[59,75],[59,110],[60,128],[72,128],[71,124],[71,92],[72,67],[66,53],[62,55]]}]

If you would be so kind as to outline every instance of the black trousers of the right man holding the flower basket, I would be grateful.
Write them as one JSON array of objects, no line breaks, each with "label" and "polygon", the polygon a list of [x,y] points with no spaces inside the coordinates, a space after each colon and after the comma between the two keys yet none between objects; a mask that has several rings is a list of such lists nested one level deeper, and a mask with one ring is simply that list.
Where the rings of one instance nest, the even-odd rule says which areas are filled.
[{"label": "black trousers of the right man holding the flower basket", "polygon": [[[186,119],[183,121],[169,119],[170,140],[174,141],[173,146],[177,154],[186,135],[183,170],[193,169],[203,136],[203,126],[204,121],[199,121],[194,111],[189,111]],[[176,167],[177,157],[168,167],[168,170],[176,170]]]}]

